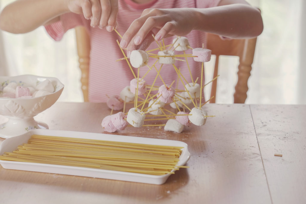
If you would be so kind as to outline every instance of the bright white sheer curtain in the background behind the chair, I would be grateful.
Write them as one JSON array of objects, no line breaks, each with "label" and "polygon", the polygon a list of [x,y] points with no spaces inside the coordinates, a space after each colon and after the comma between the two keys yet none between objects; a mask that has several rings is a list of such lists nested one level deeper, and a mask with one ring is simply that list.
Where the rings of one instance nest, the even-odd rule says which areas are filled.
[{"label": "bright white sheer curtain in the background behind the chair", "polygon": [[[261,9],[264,30],[258,37],[249,79],[249,104],[306,104],[306,34],[304,0],[247,0]],[[12,0],[0,0],[2,7]],[[304,9],[303,9],[304,8]],[[33,32],[0,35],[1,70],[5,50],[9,75],[35,74],[59,78],[65,88],[60,101],[82,101],[74,30],[54,42],[38,28]],[[1,45],[1,42],[4,42]],[[221,57],[217,103],[232,103],[237,80],[236,57]],[[212,78],[213,63],[205,65],[206,81]],[[3,71],[3,70],[2,70]],[[0,73],[2,74],[2,73]],[[206,87],[206,98],[209,98]]]}]

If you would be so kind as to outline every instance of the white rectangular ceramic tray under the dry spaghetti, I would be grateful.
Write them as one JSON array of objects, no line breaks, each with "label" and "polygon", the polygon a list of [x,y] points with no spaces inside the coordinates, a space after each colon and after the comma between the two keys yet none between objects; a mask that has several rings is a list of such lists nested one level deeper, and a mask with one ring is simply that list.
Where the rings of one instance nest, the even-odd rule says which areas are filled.
[{"label": "white rectangular ceramic tray under the dry spaghetti", "polygon": [[[122,135],[109,135],[109,134],[89,133],[89,132],[46,130],[46,129],[35,129],[25,134],[5,139],[0,145],[0,155],[3,155],[4,152],[12,152],[16,150],[19,145],[27,143],[32,135],[61,136],[61,137],[107,140],[107,141],[116,141],[116,142],[184,147],[182,149],[182,154],[179,157],[179,162],[177,163],[177,165],[178,166],[185,165],[185,163],[190,158],[190,153],[188,152],[187,144],[181,141],[122,136]],[[20,162],[20,161],[0,160],[0,164],[5,169],[58,173],[58,174],[66,174],[73,176],[86,176],[94,178],[140,182],[147,184],[163,184],[170,176],[170,174],[156,176],[156,175],[148,175],[148,174],[132,173],[132,172],[121,172],[121,171],[111,171],[104,169],[40,164],[40,163]]]}]

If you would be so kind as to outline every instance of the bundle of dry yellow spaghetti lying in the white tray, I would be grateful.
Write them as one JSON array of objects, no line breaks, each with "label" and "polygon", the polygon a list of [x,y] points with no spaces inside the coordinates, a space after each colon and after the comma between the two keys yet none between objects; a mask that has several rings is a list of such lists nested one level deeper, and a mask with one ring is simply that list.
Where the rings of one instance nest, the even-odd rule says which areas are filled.
[{"label": "bundle of dry yellow spaghetti lying in the white tray", "polygon": [[173,174],[184,147],[32,135],[0,160],[68,165],[151,175]]}]

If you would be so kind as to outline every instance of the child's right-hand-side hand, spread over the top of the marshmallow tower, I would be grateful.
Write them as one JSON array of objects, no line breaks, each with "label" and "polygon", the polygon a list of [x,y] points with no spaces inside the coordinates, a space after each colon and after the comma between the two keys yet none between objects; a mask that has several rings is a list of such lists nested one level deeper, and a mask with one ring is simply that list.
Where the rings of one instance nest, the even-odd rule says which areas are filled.
[{"label": "child's right-hand-side hand, spread over the top of the marshmallow tower", "polygon": [[170,35],[187,35],[195,28],[196,12],[190,8],[145,9],[140,18],[132,22],[121,39],[120,46],[128,51],[145,50],[151,42]]}]

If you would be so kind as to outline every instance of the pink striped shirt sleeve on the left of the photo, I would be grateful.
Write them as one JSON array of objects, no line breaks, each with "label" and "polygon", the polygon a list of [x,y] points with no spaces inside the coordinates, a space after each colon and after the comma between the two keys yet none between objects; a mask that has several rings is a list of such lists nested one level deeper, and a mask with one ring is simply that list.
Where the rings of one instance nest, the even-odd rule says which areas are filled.
[{"label": "pink striped shirt sleeve on the left of the photo", "polygon": [[59,41],[65,32],[76,26],[84,26],[89,31],[89,20],[86,20],[81,14],[65,13],[60,16],[59,21],[46,25],[45,29],[51,38]]}]

